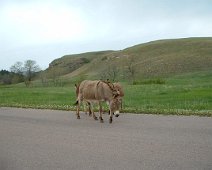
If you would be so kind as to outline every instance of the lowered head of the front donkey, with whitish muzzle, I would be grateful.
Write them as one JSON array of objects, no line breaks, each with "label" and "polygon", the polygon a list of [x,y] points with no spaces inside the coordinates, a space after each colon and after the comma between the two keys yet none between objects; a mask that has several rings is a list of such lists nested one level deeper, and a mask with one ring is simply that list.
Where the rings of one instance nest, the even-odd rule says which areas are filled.
[{"label": "lowered head of the front donkey, with whitish muzzle", "polygon": [[122,98],[120,96],[114,97],[110,102],[110,111],[112,112],[112,114],[115,114],[115,116],[118,117],[121,108],[122,108]]}]

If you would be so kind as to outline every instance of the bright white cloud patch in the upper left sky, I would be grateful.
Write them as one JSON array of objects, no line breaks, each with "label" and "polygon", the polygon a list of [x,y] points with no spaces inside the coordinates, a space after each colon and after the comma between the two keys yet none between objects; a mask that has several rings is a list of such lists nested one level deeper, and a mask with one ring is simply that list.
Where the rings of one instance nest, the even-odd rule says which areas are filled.
[{"label": "bright white cloud patch in the upper left sky", "polygon": [[5,39],[25,45],[73,41],[85,34],[79,12],[58,4],[11,5],[1,16]]}]

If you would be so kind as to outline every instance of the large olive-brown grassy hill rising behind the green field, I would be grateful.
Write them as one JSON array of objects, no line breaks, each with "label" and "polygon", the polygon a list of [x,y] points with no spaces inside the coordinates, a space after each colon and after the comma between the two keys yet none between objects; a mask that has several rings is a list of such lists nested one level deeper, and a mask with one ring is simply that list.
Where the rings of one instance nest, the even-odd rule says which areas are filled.
[{"label": "large olive-brown grassy hill rising behind the green field", "polygon": [[111,78],[116,74],[116,79],[140,79],[211,69],[212,38],[184,38],[153,41],[121,51],[67,55],[54,60],[47,70],[60,70],[69,78]]}]

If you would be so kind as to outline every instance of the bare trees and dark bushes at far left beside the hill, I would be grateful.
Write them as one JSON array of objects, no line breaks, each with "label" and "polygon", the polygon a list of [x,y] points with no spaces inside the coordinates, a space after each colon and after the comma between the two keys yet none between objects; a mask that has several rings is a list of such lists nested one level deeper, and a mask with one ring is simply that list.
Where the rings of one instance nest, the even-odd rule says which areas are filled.
[{"label": "bare trees and dark bushes at far left beside the hill", "polygon": [[10,71],[0,70],[0,85],[25,83],[27,87],[32,85],[34,80],[41,80],[42,86],[63,86],[60,79],[60,70],[48,69],[42,71],[34,60],[26,60],[24,63],[17,61],[10,67]]}]

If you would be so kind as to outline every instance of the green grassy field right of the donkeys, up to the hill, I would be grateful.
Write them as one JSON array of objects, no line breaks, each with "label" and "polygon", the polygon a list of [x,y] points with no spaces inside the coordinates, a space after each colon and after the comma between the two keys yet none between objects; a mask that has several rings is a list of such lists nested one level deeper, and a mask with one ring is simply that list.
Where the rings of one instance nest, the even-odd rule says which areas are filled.
[{"label": "green grassy field right of the donkeys, up to the hill", "polygon": [[165,84],[127,86],[126,109],[156,114],[212,115],[211,73],[175,76]]}]

